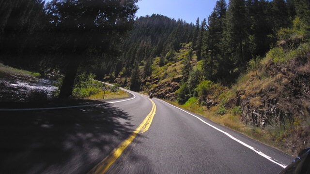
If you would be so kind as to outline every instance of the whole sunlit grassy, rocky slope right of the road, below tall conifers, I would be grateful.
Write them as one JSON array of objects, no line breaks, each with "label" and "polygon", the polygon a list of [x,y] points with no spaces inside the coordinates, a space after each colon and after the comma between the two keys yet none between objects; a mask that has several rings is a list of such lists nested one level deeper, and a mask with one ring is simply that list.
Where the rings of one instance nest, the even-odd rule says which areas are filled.
[{"label": "whole sunlit grassy, rocky slope right of the road, below tall conifers", "polygon": [[[296,155],[310,146],[310,44],[300,25],[296,18],[281,29],[276,46],[251,59],[231,86],[204,76],[205,60],[197,61],[190,42],[170,52],[164,65],[156,57],[150,76],[141,63],[141,90]],[[114,83],[129,87],[131,79],[121,74]]]}]

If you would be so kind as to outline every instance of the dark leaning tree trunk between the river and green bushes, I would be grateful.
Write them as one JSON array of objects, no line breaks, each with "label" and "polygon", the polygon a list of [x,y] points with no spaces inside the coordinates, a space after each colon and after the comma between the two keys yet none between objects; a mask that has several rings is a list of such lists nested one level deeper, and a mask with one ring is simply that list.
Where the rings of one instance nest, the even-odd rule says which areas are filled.
[{"label": "dark leaning tree trunk between the river and green bushes", "polygon": [[67,70],[62,80],[62,87],[59,93],[60,99],[68,98],[70,95],[72,95],[74,80],[78,72],[78,65],[78,60],[71,60],[67,65]]}]

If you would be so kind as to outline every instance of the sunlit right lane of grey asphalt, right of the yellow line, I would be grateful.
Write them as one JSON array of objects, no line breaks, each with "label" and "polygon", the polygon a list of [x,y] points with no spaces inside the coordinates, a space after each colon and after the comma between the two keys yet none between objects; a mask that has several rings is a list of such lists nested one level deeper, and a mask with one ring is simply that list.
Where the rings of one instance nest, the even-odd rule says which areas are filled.
[{"label": "sunlit right lane of grey asphalt, right of the yellow line", "polygon": [[153,101],[157,110],[149,131],[128,146],[108,173],[277,174],[294,159],[202,116],[186,113],[159,99]]}]

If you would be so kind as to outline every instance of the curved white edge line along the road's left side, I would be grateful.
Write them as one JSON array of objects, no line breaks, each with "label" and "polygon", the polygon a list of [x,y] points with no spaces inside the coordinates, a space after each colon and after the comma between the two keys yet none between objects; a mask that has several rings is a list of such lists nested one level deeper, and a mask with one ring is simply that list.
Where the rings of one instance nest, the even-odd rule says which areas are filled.
[{"label": "curved white edge line along the road's left side", "polygon": [[[122,89],[123,90],[123,89]],[[128,92],[128,91],[126,91]],[[126,99],[126,100],[122,100],[122,101],[116,101],[116,102],[125,102],[128,100],[132,100],[134,98],[136,98],[135,94],[128,92],[130,94],[132,94],[134,97],[130,98],[130,99]],[[108,102],[108,103],[116,103],[116,102]],[[97,105],[102,105],[104,103],[100,103],[100,104],[88,104],[88,105],[79,105],[79,106],[63,106],[63,107],[48,107],[48,108],[18,108],[18,109],[2,109],[0,108],[0,111],[39,111],[39,110],[52,110],[52,109],[67,109],[67,108],[79,108],[79,107],[88,107],[88,106],[97,106]]]}]

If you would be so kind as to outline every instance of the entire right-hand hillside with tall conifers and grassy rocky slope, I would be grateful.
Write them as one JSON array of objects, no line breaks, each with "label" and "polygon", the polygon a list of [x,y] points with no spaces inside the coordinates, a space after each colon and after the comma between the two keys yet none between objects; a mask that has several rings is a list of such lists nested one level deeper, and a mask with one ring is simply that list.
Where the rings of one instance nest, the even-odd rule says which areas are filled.
[{"label": "entire right-hand hillside with tall conifers and grassy rocky slope", "polygon": [[[152,92],[295,156],[310,146],[309,11],[302,0],[230,0],[229,7],[218,0],[207,20],[197,19],[189,42],[158,42],[153,48],[162,52],[147,53],[152,44],[141,38],[135,44],[133,34],[127,48],[138,49],[127,53],[141,63],[129,73],[125,64],[109,78],[124,87],[140,84],[134,90]],[[140,18],[144,25],[136,29],[154,18]],[[188,38],[182,22],[177,21],[183,29],[171,35]]]}]

